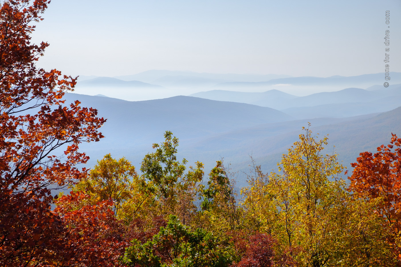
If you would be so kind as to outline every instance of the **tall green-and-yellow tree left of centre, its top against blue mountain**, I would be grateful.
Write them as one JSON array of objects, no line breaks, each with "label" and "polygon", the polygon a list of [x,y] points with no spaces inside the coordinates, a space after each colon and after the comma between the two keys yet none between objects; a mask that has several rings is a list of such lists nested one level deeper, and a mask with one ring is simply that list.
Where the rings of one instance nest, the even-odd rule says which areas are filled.
[{"label": "tall green-and-yellow tree left of centre, its top against blue mountain", "polygon": [[171,131],[164,134],[162,144],[153,144],[155,152],[149,153],[142,161],[143,177],[149,181],[147,188],[158,203],[158,212],[166,218],[175,214],[188,225],[197,211],[194,201],[203,188],[203,164],[195,162],[187,173],[186,159],[177,160],[178,138]]}]

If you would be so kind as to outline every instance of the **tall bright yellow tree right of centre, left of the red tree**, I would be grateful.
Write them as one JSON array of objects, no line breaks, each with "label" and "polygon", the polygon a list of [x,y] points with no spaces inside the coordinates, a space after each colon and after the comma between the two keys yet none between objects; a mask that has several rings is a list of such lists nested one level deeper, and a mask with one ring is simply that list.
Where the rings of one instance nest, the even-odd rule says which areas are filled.
[{"label": "tall bright yellow tree right of centre, left of the red tree", "polygon": [[294,143],[277,164],[282,174],[268,178],[260,172],[251,180],[244,204],[249,221],[260,223],[280,244],[276,250],[297,249],[295,259],[302,266],[336,264],[345,218],[339,216],[346,200],[343,170],[336,155],[322,152],[327,137],[318,140],[312,131],[303,128],[300,140]]}]

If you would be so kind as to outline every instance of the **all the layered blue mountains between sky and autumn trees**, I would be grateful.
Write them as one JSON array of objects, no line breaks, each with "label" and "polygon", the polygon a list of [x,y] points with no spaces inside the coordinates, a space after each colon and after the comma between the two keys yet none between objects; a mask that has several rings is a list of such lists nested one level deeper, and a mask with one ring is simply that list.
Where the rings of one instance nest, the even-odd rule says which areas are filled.
[{"label": "all the layered blue mountains between sky and autumn trees", "polygon": [[[189,164],[203,162],[205,173],[224,158],[239,171],[238,185],[243,186],[249,155],[265,172],[276,168],[308,123],[314,134],[329,134],[325,153],[338,153],[347,167],[360,152],[375,152],[377,146],[388,144],[391,132],[401,136],[401,73],[390,73],[387,88],[383,75],[320,78],[147,71],[86,77],[77,84],[77,92],[99,96],[69,93],[66,97],[67,103],[78,99],[107,118],[101,128],[105,138],[81,144],[91,157],[87,167],[111,153],[114,158],[126,157],[139,169],[145,154],[153,151],[152,144],[162,142],[168,130],[180,140],[178,157]],[[320,92],[298,96],[277,90],[294,85]],[[321,92],[326,86],[346,89]],[[131,100],[152,100],[112,98],[130,94]]]}]

